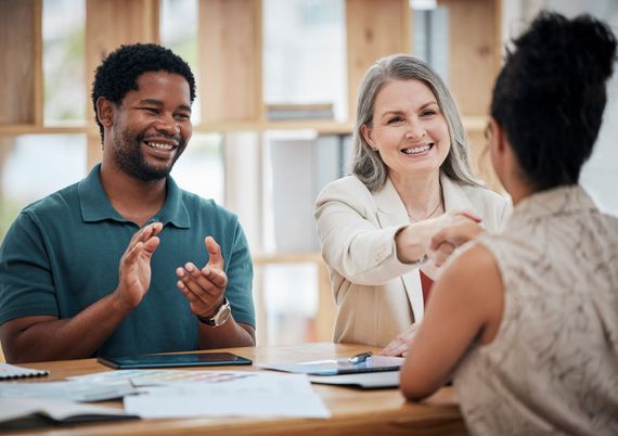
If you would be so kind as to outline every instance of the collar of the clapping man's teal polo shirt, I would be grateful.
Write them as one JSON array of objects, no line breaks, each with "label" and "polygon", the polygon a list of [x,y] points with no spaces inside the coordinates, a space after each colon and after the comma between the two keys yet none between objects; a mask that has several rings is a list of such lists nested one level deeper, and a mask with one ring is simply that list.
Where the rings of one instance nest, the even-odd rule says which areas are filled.
[{"label": "collar of the clapping man's teal polo shirt", "polygon": [[[95,165],[90,174],[79,181],[77,185],[83,221],[96,222],[114,220],[128,222],[126,218],[114,209],[107,195],[105,195],[105,191],[101,184],[101,178],[99,177],[100,170],[101,164]],[[191,219],[183,202],[182,190],[170,176],[167,177],[167,198],[165,200],[165,204],[149,222],[152,221],[160,221],[164,226],[170,223],[180,229],[191,227]]]}]

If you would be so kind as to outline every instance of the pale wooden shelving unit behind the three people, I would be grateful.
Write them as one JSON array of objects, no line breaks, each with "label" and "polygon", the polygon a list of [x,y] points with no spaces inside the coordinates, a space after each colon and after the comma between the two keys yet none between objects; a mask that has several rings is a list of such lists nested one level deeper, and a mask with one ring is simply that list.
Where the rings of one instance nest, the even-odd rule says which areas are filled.
[{"label": "pale wooden shelving unit behind the three people", "polygon": [[[0,2],[0,168],[11,138],[21,134],[82,133],[88,138],[88,167],[101,158],[99,130],[90,101],[82,126],[43,125],[42,84],[43,0]],[[346,0],[347,81],[349,113],[365,69],[378,57],[411,50],[408,0]],[[482,156],[491,85],[500,66],[501,0],[439,0],[449,11],[450,88],[473,140],[474,166],[498,188],[488,157]],[[312,129],[324,134],[348,134],[347,121],[266,118],[262,101],[262,1],[198,1],[199,94],[203,123],[195,132],[234,132]],[[87,0],[86,84],[95,66],[117,46],[158,42],[162,11],[158,0]],[[10,62],[8,61],[10,60]],[[90,89],[87,93],[90,95]],[[317,254],[294,261],[320,268],[320,339],[329,339],[334,307],[329,279]],[[256,265],[291,261],[287,257],[256,257]]]}]

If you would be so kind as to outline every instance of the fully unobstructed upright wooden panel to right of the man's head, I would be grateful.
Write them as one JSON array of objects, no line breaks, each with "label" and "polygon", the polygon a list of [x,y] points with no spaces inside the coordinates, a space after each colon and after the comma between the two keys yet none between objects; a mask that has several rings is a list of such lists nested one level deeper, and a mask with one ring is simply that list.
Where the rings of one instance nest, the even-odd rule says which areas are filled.
[{"label": "fully unobstructed upright wooden panel to right of the man's head", "polygon": [[202,120],[263,119],[261,0],[199,1]]}]

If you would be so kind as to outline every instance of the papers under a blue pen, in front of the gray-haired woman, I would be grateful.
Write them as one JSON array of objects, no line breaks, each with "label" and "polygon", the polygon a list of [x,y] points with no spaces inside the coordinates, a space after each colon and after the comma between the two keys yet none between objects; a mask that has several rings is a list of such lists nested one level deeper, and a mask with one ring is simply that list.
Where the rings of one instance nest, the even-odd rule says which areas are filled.
[{"label": "papers under a blue pen, in front of the gray-haired woman", "polygon": [[296,372],[309,375],[360,374],[365,372],[399,371],[404,362],[402,357],[372,356],[360,363],[350,363],[349,359],[317,360],[311,362],[263,364],[267,370]]}]

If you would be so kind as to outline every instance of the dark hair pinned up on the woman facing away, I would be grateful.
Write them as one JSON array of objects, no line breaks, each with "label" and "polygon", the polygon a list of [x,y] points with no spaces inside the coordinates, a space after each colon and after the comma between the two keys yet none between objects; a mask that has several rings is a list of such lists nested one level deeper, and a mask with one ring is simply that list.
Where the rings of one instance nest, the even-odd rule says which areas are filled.
[{"label": "dark hair pinned up on the woman facing away", "polygon": [[577,183],[603,119],[616,37],[588,14],[569,20],[544,11],[513,44],[491,115],[532,185]]}]

